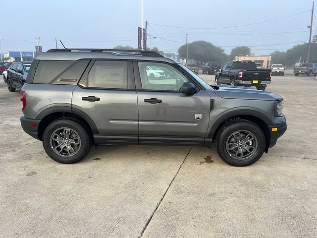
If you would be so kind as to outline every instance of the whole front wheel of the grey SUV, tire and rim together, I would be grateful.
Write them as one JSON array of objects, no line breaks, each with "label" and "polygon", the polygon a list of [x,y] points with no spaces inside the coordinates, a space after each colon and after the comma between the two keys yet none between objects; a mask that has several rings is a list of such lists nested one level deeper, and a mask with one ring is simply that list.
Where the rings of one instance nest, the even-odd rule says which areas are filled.
[{"label": "whole front wheel of the grey SUV, tire and rim together", "polygon": [[[248,135],[249,140],[253,138],[249,142],[245,140]],[[264,149],[264,133],[259,126],[250,121],[237,121],[227,125],[217,138],[217,151],[220,158],[232,166],[254,164],[261,158]]]}]

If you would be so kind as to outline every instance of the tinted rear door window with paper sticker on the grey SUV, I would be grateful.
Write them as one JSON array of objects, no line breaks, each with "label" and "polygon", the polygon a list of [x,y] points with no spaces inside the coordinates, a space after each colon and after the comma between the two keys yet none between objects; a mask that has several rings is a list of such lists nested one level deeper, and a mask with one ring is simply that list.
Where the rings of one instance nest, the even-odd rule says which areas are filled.
[{"label": "tinted rear door window with paper sticker on the grey SUV", "polygon": [[88,87],[128,88],[128,62],[97,60],[88,73]]}]

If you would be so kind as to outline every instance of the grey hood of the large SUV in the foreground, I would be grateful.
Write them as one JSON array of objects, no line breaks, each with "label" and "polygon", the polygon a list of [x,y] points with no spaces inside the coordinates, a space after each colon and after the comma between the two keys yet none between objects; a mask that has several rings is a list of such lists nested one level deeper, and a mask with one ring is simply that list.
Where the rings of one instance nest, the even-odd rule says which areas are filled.
[{"label": "grey hood of the large SUV in the foreground", "polygon": [[283,99],[281,96],[275,93],[257,90],[249,87],[237,87],[228,85],[217,85],[214,87],[216,87],[217,90],[214,90],[213,92],[221,98],[266,101],[276,101]]}]

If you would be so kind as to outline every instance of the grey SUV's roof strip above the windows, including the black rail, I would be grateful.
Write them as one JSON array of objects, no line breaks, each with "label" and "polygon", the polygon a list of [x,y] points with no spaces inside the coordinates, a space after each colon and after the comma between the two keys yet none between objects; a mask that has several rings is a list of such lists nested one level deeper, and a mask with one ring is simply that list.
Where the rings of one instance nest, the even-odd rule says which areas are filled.
[{"label": "grey SUV's roof strip above the windows, including the black rail", "polygon": [[80,59],[113,59],[113,60],[155,60],[175,63],[156,52],[140,50],[115,49],[52,49],[38,53],[34,60],[80,60]]}]

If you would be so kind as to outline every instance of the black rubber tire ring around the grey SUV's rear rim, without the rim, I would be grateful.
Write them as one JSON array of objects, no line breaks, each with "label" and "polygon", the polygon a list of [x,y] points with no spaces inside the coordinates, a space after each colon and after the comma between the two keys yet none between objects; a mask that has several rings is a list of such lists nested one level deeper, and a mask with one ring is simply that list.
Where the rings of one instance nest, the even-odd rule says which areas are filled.
[{"label": "black rubber tire ring around the grey SUV's rear rim, without the rim", "polygon": [[[80,137],[81,146],[79,151],[74,156],[71,156],[71,157],[59,156],[53,151],[51,147],[52,133],[60,127],[71,128],[75,130],[78,133],[78,136]],[[84,129],[83,126],[81,126],[79,123],[73,120],[68,120],[68,119],[55,120],[46,127],[43,133],[43,147],[46,153],[54,161],[62,163],[62,164],[73,164],[82,160],[88,154],[90,146],[91,146],[91,141],[87,131]]]}]

